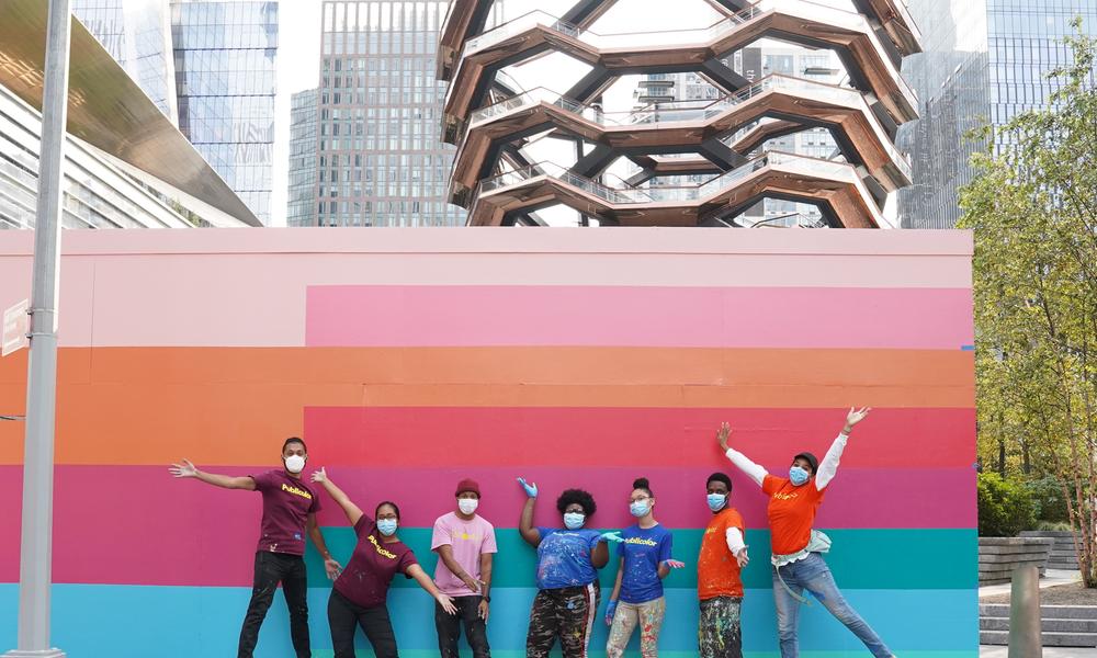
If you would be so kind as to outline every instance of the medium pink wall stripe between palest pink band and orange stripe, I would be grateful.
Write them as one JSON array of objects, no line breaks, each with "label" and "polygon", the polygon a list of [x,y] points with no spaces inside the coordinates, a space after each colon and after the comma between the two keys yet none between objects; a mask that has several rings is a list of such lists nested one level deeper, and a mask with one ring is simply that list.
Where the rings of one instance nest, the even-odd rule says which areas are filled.
[{"label": "medium pink wall stripe between palest pink band and orange stripe", "polygon": [[[960,288],[312,286],[309,347],[959,350]],[[840,310],[836,310],[840,309]]]}]

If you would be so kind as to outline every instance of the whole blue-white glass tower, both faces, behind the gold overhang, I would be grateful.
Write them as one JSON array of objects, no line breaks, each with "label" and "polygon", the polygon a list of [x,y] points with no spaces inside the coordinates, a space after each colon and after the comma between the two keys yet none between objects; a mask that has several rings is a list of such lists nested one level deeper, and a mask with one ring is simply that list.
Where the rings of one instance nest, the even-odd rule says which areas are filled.
[{"label": "whole blue-white glass tower, both faces, behind the gold overhang", "polygon": [[268,224],[278,2],[73,0],[73,14]]}]

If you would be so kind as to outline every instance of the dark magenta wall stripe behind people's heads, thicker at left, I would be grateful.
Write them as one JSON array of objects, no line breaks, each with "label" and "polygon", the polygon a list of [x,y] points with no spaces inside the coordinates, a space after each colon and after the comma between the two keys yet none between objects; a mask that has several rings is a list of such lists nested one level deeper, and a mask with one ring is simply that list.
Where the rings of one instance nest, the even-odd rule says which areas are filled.
[{"label": "dark magenta wall stripe behind people's heads, thicker at left", "polygon": [[[385,447],[398,450],[398,446]],[[460,445],[454,446],[454,453]],[[653,455],[657,457],[657,455]],[[320,464],[312,464],[306,470]],[[514,481],[524,475],[542,490],[538,523],[558,525],[555,498],[566,487],[588,489],[599,504],[598,527],[632,522],[629,487],[636,476],[651,478],[659,518],[672,527],[702,527],[710,518],[704,479],[713,468],[343,468],[331,478],[363,509],[382,499],[402,506],[405,526],[430,526],[453,507],[460,478],[478,479],[480,511],[498,527],[514,527],[524,494]],[[210,467],[244,475],[262,468]],[[0,467],[0,483],[14,495],[21,479],[14,466]],[[765,526],[766,499],[739,474],[734,503],[748,527]],[[819,527],[974,527],[974,474],[971,469],[842,469],[818,517]],[[0,490],[3,492],[3,490]],[[321,525],[346,525],[326,497]],[[959,501],[959,502],[958,502]],[[966,503],[964,502],[966,501]],[[56,582],[121,585],[246,586],[250,582],[261,502],[251,491],[230,491],[171,478],[163,467],[63,466],[57,468],[54,523]],[[0,580],[18,580],[18,524],[5,523],[0,546]]]}]

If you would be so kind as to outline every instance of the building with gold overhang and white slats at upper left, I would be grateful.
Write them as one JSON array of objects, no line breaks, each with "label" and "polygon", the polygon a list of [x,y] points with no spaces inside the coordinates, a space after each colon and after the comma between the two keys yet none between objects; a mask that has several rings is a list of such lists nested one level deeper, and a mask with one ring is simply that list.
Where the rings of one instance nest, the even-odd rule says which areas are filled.
[{"label": "building with gold overhang and white slats at upper left", "polygon": [[[0,228],[35,223],[47,4],[0,3]],[[75,24],[64,150],[65,228],[259,226],[134,78]],[[37,64],[35,64],[37,63]]]}]

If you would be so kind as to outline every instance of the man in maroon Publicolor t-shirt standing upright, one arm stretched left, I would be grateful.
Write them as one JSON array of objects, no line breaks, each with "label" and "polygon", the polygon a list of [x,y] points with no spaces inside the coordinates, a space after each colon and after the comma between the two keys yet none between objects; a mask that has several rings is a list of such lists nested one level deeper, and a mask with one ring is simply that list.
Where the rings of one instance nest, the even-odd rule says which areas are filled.
[{"label": "man in maroon Publicolor t-shirt standing upright, one arm stretched left", "polygon": [[283,468],[259,475],[231,477],[199,470],[183,460],[172,464],[168,472],[176,477],[192,477],[215,487],[259,491],[263,496],[263,520],[256,552],[256,572],[251,586],[251,602],[240,628],[237,658],[251,658],[259,642],[259,627],[267,617],[267,610],[274,600],[274,590],[282,583],[286,606],[290,609],[290,635],[297,658],[312,656],[308,642],[307,582],[305,580],[305,534],[307,533],[324,556],[328,578],[339,576],[341,567],[331,558],[324,543],[324,535],[316,524],[320,499],[313,487],[301,479],[308,450],[305,442],[291,436],[282,444]]}]

